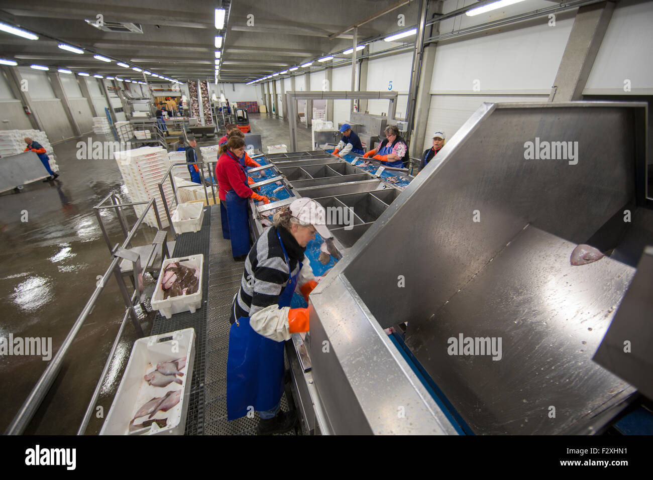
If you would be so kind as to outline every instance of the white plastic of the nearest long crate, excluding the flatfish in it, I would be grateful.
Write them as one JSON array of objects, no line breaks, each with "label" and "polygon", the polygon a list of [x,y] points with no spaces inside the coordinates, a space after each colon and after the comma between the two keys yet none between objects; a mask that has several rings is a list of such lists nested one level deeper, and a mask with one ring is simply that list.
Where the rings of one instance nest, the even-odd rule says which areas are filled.
[{"label": "white plastic of the nearest long crate, excluding the flatfish in it", "polygon": [[[182,385],[172,382],[166,387],[152,387],[143,378],[156,369],[157,363],[186,358],[186,366],[180,370]],[[104,420],[100,435],[183,435],[188,413],[191,380],[195,363],[195,329],[185,328],[176,332],[139,338],[127,362],[125,374]],[[152,419],[167,419],[167,424],[159,428],[156,423],[129,432],[129,424],[138,409],[152,398],[165,396],[168,391],[181,390],[181,398],[176,406],[168,411],[157,411]],[[139,417],[136,424],[147,420]]]}]

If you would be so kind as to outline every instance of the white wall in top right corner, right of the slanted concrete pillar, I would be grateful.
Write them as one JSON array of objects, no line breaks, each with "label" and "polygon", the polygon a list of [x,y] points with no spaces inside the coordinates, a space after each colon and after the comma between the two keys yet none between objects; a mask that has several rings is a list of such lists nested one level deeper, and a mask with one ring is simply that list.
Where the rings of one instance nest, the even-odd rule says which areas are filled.
[{"label": "white wall in top right corner, right of the slanted concrete pillar", "polygon": [[[652,29],[652,3],[617,3],[582,93],[653,94]],[[630,91],[624,91],[626,80]]]}]

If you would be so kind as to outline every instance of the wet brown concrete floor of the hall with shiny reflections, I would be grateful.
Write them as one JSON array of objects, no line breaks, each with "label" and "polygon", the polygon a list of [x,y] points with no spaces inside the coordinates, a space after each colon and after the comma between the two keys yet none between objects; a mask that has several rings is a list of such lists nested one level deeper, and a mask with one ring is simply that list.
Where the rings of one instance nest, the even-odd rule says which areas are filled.
[{"label": "wet brown concrete floor of the hall with shiny reflections", "polygon": [[[251,114],[250,124],[253,133],[261,133],[264,151],[266,145],[289,145],[287,121],[271,114]],[[310,135],[310,129],[298,129],[298,150],[310,150]],[[77,158],[77,143],[86,142],[89,136],[93,141],[112,140],[91,134],[58,144],[54,146],[60,168],[57,180],[25,185],[21,193],[0,194],[0,337],[52,338],[50,357],[82,312],[97,276],[104,274],[111,261],[93,206],[111,191],[129,200],[114,159]],[[131,227],[136,215],[131,208],[125,209],[125,214]],[[104,210],[103,220],[112,244],[121,243],[124,237],[115,214]],[[142,225],[132,246],[150,244],[155,232]],[[168,240],[172,238],[168,236]],[[127,287],[131,287],[129,282]],[[72,343],[26,434],[76,434],[124,313],[112,278]],[[151,315],[142,323],[146,335],[150,321]],[[105,415],[136,338],[128,321],[97,403]],[[0,355],[0,385],[5,393],[0,432],[10,424],[47,365],[41,356]],[[86,433],[97,434],[102,423],[103,418],[93,415]]]}]

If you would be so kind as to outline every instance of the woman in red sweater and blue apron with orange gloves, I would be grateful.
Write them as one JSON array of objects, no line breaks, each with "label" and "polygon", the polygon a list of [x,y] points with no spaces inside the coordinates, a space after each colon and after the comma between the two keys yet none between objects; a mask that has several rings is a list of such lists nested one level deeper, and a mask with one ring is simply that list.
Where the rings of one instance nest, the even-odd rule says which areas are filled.
[{"label": "woman in red sweater and blue apron with orange gloves", "polygon": [[244,152],[245,142],[242,138],[229,138],[218,150],[219,159],[215,165],[222,236],[231,239],[231,254],[236,261],[244,260],[251,247],[247,199],[270,203],[267,197],[255,193],[247,186],[247,171],[240,164]]}]

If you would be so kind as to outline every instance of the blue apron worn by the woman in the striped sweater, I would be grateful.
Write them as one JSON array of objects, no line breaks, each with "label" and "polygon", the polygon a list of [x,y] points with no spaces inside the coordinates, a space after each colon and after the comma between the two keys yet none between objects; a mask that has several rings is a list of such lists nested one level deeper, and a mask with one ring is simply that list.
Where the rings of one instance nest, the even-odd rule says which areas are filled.
[{"label": "blue apron worn by the woman in the striped sweater", "polygon": [[[277,238],[290,271],[290,261],[279,232]],[[300,270],[301,262],[297,274],[288,280],[279,296],[279,308],[290,306]],[[236,301],[234,298],[234,310]],[[268,411],[279,404],[283,394],[283,344],[252,330],[249,317],[240,317],[231,325],[227,354],[227,420],[244,417],[251,408]]]}]

